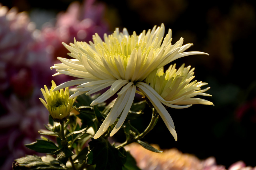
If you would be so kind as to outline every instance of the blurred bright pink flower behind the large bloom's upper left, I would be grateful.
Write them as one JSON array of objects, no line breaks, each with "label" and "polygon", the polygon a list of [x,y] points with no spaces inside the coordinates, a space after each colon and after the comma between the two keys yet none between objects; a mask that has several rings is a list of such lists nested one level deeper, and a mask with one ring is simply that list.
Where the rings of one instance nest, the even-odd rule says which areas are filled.
[{"label": "blurred bright pink flower behind the large bloom's upper left", "polygon": [[94,4],[94,1],[71,3],[66,12],[57,15],[55,26],[49,24],[42,28],[41,41],[47,45],[47,51],[56,61],[58,56],[67,56],[68,53],[62,42],[72,42],[74,37],[77,41],[89,42],[96,32],[101,37],[108,33],[108,24],[103,18],[105,6]]}]

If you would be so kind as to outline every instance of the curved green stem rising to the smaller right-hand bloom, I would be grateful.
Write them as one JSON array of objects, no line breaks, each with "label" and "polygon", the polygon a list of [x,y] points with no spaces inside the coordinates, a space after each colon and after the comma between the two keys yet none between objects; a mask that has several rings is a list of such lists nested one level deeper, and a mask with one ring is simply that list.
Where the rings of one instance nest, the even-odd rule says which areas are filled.
[{"label": "curved green stem rising to the smaller right-hand bloom", "polygon": [[121,147],[124,147],[132,142],[136,142],[137,140],[140,140],[141,138],[143,138],[146,134],[148,134],[148,132],[150,132],[150,130],[153,129],[153,127],[156,125],[156,122],[158,121],[158,118],[159,118],[159,115],[157,114],[157,111],[155,110],[155,108],[152,108],[152,118],[151,118],[151,121],[148,124],[147,128],[144,130],[144,132],[137,135],[132,140],[128,140],[128,141],[126,140],[124,143],[121,143],[120,145],[116,146],[115,148],[119,149]]}]

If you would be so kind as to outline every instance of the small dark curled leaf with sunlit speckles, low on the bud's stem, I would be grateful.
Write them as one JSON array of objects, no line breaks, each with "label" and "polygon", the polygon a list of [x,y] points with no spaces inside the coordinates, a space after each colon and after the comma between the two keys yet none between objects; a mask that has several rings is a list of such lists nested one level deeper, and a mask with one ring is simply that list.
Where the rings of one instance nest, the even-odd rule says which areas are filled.
[{"label": "small dark curled leaf with sunlit speckles, low on the bud's stem", "polygon": [[66,168],[66,163],[68,161],[69,156],[74,155],[74,153],[69,150],[67,147],[63,147],[62,149],[59,149],[54,153],[56,156],[56,160],[60,163],[60,166],[63,168]]}]

